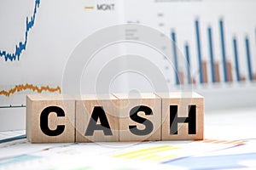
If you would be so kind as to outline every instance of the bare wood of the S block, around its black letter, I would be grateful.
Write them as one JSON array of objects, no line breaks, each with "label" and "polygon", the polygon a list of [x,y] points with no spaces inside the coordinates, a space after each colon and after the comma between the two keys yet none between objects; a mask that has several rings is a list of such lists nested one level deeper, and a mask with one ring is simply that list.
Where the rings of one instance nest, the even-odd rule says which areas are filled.
[{"label": "bare wood of the S block, around its black letter", "polygon": [[[161,130],[161,101],[155,94],[113,94],[119,99],[119,141],[143,141],[160,140]],[[147,135],[136,135],[131,133],[129,126],[137,126],[137,129],[145,129],[142,123],[131,120],[130,111],[132,108],[143,105],[152,110],[153,115],[145,115],[139,111],[138,116],[148,119],[153,123],[153,130]]]}]

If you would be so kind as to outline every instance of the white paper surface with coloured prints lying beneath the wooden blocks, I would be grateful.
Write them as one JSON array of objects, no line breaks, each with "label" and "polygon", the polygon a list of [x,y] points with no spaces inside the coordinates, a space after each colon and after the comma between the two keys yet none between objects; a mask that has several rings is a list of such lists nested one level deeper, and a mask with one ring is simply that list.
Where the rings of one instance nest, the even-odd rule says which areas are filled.
[{"label": "white paper surface with coloured prints lying beneath the wooden blocks", "polygon": [[0,169],[255,168],[255,111],[207,113],[200,141],[30,144],[14,138],[24,131],[1,132]]}]

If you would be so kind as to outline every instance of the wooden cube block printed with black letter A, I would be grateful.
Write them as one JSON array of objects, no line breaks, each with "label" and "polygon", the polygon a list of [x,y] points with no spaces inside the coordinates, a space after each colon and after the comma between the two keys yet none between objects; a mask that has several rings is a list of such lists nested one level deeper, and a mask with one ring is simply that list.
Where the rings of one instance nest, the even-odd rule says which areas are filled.
[{"label": "wooden cube block printed with black letter A", "polygon": [[76,142],[119,141],[119,100],[87,94],[76,101]]}]

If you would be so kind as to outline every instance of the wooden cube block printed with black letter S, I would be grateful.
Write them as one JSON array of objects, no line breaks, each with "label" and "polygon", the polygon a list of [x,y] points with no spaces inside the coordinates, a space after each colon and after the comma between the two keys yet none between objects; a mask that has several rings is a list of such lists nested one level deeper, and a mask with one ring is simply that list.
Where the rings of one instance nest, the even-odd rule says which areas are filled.
[{"label": "wooden cube block printed with black letter S", "polygon": [[160,140],[161,100],[155,94],[113,94],[119,99],[119,141]]}]

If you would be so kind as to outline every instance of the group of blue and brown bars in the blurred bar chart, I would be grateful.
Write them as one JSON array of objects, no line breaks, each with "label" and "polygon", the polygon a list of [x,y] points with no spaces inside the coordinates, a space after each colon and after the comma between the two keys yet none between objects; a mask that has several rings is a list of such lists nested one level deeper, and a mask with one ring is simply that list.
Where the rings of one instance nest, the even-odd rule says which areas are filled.
[{"label": "group of blue and brown bars in the blurred bar chart", "polygon": [[[187,84],[207,84],[207,83],[231,83],[231,82],[256,82],[256,70],[253,70],[252,65],[252,51],[251,46],[254,45],[252,41],[250,41],[249,37],[246,35],[243,37],[244,42],[240,42],[240,46],[244,46],[245,51],[243,52],[243,56],[238,55],[238,42],[236,36],[232,39],[227,39],[225,37],[225,28],[224,28],[224,19],[218,20],[220,37],[216,38],[215,41],[219,41],[221,48],[221,56],[218,56],[221,60],[217,60],[216,55],[214,54],[214,47],[212,45],[212,37],[214,36],[214,32],[212,32],[212,27],[208,26],[207,31],[207,42],[208,44],[201,44],[201,29],[200,29],[200,20],[195,20],[195,42],[196,42],[196,54],[197,54],[197,62],[198,62],[198,75],[191,75],[191,55],[189,54],[189,42],[184,42],[184,48],[180,49],[184,51],[184,57],[186,58],[187,68],[179,68],[178,67],[178,56],[177,55],[177,47],[176,42],[178,35],[173,30],[171,31],[170,38],[172,40],[173,45],[173,56],[174,56],[174,72],[175,72],[175,84],[182,85],[184,82]],[[219,39],[219,40],[218,40]],[[226,42],[230,41],[233,46],[233,54],[230,56],[233,59],[228,59],[226,54]],[[256,40],[255,40],[256,41]],[[255,42],[254,41],[254,42]],[[207,48],[208,56],[206,60],[202,59],[201,48]],[[195,56],[194,56],[195,57]],[[206,57],[205,57],[206,58]],[[193,58],[195,59],[195,58]],[[245,59],[247,65],[241,65],[241,59]],[[233,62],[232,62],[233,61]],[[240,67],[246,67],[246,74],[241,74]],[[186,72],[187,77],[184,77],[184,72]],[[198,81],[196,82],[195,77],[199,76]],[[223,77],[221,79],[221,77]],[[185,80],[186,79],[186,80]]]}]

